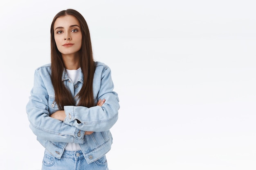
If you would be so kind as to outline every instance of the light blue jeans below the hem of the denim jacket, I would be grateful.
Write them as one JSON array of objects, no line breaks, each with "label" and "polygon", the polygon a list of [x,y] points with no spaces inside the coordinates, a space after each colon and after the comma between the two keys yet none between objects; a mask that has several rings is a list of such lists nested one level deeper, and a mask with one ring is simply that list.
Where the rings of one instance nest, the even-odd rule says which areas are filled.
[{"label": "light blue jeans below the hem of the denim jacket", "polygon": [[65,150],[61,159],[52,156],[45,150],[42,170],[108,170],[106,156],[88,164],[81,150]]}]

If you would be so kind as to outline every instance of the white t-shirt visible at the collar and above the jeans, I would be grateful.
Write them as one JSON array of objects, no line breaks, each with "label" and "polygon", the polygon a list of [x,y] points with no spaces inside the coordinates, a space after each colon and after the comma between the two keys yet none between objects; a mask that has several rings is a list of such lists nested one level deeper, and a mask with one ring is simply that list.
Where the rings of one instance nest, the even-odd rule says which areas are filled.
[{"label": "white t-shirt visible at the collar and above the jeans", "polygon": [[[76,82],[79,78],[80,70],[81,70],[81,68],[79,68],[77,70],[67,70],[67,76],[68,76],[68,78],[70,78],[70,80],[72,81],[73,84],[76,84]],[[79,144],[67,143],[65,150],[76,151],[76,150],[81,150],[81,147],[79,146]]]}]

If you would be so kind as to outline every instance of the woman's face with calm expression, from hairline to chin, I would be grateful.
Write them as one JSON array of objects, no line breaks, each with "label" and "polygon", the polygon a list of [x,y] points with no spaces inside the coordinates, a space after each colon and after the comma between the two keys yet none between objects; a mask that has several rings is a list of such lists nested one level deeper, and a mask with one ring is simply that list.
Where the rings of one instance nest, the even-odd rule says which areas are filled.
[{"label": "woman's face with calm expression, from hairline to chin", "polygon": [[54,23],[54,39],[63,55],[76,55],[82,46],[79,21],[73,15],[58,17]]}]

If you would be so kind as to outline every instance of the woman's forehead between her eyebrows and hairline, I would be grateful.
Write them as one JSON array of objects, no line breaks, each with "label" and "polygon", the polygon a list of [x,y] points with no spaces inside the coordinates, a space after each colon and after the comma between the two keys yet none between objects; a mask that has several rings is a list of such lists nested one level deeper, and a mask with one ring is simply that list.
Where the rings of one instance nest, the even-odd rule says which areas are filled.
[{"label": "woman's forehead between her eyebrows and hairline", "polygon": [[58,17],[54,23],[54,29],[56,27],[70,27],[71,25],[78,25],[80,27],[79,21],[73,15],[65,15]]}]

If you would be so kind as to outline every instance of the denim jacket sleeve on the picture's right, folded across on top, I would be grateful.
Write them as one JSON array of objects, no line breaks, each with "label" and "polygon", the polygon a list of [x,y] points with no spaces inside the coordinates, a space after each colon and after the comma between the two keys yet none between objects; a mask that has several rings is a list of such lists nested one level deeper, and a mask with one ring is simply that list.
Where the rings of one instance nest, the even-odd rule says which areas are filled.
[{"label": "denim jacket sleeve on the picture's right, folded across on top", "polygon": [[[101,76],[100,88],[97,100],[106,99],[100,106],[64,106],[66,118],[65,124],[70,124],[83,131],[108,131],[118,119],[119,98],[113,91],[114,84],[111,78],[110,68],[106,69]],[[80,122],[78,123],[77,120]]]}]

